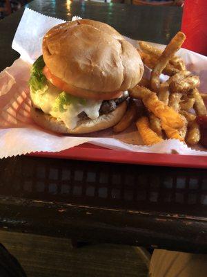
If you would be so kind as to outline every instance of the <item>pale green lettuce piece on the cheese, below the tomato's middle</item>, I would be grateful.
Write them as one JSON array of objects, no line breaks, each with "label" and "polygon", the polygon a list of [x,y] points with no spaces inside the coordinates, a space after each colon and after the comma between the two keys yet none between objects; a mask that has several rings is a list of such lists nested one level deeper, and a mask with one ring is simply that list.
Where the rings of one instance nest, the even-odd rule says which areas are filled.
[{"label": "pale green lettuce piece on the cheese, below the tomato's middle", "polygon": [[78,98],[75,96],[72,96],[65,91],[61,92],[59,96],[55,99],[55,103],[52,107],[53,111],[57,112],[63,112],[66,111],[66,106],[69,105],[86,105],[86,99]]}]

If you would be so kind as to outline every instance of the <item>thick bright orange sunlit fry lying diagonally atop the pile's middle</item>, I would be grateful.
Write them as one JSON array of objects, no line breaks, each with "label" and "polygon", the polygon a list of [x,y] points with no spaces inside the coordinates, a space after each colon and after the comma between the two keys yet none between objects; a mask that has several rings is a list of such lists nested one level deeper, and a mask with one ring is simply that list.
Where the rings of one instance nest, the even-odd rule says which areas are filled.
[{"label": "thick bright orange sunlit fry lying diagonally atop the pile's middle", "polygon": [[142,101],[155,116],[160,118],[169,127],[179,129],[184,126],[181,116],[174,109],[161,102],[155,93],[148,93]]}]

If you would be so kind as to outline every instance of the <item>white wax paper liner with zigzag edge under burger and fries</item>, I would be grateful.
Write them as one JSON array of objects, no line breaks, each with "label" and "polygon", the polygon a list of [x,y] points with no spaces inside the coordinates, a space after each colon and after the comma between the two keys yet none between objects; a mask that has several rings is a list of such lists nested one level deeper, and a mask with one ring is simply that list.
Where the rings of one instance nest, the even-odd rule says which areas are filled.
[{"label": "white wax paper liner with zigzag edge under burger and fries", "polygon": [[[58,136],[37,127],[30,118],[30,64],[41,55],[41,41],[46,31],[62,22],[61,19],[47,17],[28,8],[23,13],[12,43],[12,48],[21,57],[0,73],[0,158],[30,152],[59,152],[86,142],[115,150],[168,154],[176,150],[179,154],[207,155],[206,151],[201,151],[204,150],[201,147],[191,149],[174,139],[150,147],[135,145],[141,140],[133,127],[118,135],[108,129],[88,136]],[[128,41],[138,46],[137,41]],[[181,49],[179,55],[184,58],[188,69],[200,76],[201,91],[207,91],[207,58],[186,49]]]}]

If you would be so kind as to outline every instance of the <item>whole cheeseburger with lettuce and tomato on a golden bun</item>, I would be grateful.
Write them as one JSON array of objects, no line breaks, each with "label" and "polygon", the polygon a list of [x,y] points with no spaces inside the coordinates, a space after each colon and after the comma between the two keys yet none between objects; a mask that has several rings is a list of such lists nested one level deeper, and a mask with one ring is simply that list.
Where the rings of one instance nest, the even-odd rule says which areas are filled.
[{"label": "whole cheeseburger with lettuce and tomato on a golden bun", "polygon": [[114,28],[79,19],[46,33],[43,55],[32,65],[31,116],[61,134],[85,134],[117,124],[127,109],[128,89],[144,65],[136,48]]}]

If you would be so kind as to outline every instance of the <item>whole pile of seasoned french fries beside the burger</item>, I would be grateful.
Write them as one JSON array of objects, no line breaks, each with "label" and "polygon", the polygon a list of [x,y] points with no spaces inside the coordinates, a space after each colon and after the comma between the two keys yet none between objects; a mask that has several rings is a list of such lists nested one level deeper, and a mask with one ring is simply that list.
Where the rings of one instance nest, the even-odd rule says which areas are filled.
[{"label": "whole pile of seasoned french fries beside the burger", "polygon": [[[164,139],[179,139],[188,145],[199,143],[201,134],[197,116],[206,116],[206,106],[199,93],[199,76],[186,70],[181,57],[175,53],[186,39],[177,33],[164,51],[146,42],[139,42],[141,58],[152,69],[150,80],[142,78],[129,91],[130,102],[124,118],[114,127],[115,132],[124,131],[133,121],[145,145],[159,143]],[[161,82],[160,75],[169,78]],[[141,100],[143,109],[137,110],[134,99]]]}]

